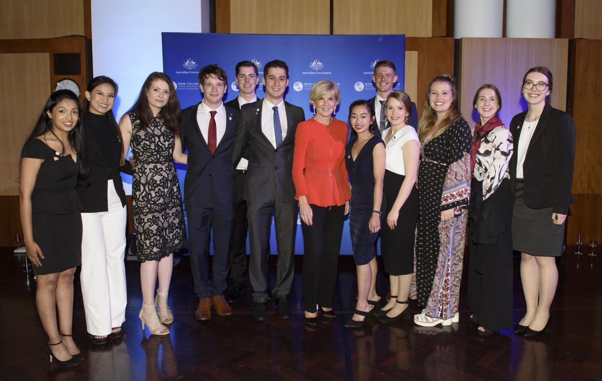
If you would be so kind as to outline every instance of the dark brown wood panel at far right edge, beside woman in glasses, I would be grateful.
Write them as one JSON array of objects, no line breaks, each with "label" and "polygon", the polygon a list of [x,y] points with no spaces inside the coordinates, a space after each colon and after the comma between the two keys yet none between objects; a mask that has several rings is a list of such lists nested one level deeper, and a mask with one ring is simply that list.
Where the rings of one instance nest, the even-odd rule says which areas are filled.
[{"label": "dark brown wood panel at far right edge, beside woman in glasses", "polygon": [[567,221],[567,242],[577,234],[589,242],[602,241],[602,130],[598,117],[598,84],[602,67],[602,40],[574,40],[571,43],[569,109],[577,129],[573,194]]}]

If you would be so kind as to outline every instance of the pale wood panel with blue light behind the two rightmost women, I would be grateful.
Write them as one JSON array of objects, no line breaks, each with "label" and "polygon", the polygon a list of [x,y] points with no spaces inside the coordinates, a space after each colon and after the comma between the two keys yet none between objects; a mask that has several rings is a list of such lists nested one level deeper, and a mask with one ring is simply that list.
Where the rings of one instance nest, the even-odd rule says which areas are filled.
[{"label": "pale wood panel with blue light behind the two rightmost women", "polygon": [[512,117],[526,110],[521,94],[524,73],[533,66],[547,66],[554,75],[550,102],[566,109],[568,84],[568,40],[555,38],[462,38],[459,42],[458,73],[460,108],[471,128],[478,121],[473,107],[474,92],[480,85],[494,84],[500,89],[500,118],[510,123]]}]

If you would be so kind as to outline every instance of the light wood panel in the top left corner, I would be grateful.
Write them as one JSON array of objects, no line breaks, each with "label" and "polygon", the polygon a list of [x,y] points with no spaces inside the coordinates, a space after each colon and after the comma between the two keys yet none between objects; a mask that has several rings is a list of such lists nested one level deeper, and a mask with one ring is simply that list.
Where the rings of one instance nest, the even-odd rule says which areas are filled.
[{"label": "light wood panel in the top left corner", "polygon": [[2,0],[0,39],[87,35],[89,12],[90,0]]}]

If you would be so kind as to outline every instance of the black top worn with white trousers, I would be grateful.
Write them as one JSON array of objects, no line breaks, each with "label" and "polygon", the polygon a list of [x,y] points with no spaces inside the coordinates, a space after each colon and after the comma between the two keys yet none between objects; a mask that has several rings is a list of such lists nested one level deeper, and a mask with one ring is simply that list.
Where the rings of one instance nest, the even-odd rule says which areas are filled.
[{"label": "black top worn with white trousers", "polygon": [[[89,186],[78,186],[76,188],[79,201],[83,207],[82,213],[98,213],[108,211],[108,200],[107,200],[107,180],[113,180],[113,185],[119,195],[122,207],[125,206],[125,192],[123,191],[123,182],[121,180],[120,171],[126,174],[132,174],[131,164],[126,160],[126,166],[123,168],[119,167],[119,160],[121,159],[121,151],[123,145],[119,141],[117,131],[108,122],[107,129],[113,132],[114,140],[111,141],[110,146],[101,147],[99,145],[99,139],[92,129],[85,127],[85,114],[84,113],[84,144],[87,160],[90,165],[90,174],[88,175]],[[110,162],[107,162],[103,151],[114,152]]]}]

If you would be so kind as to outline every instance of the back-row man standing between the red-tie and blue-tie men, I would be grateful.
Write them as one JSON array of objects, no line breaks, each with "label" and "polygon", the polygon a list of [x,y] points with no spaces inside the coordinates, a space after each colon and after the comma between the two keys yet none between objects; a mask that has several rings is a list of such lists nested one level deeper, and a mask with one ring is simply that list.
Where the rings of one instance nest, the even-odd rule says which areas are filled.
[{"label": "back-row man standing between the red-tie and blue-tie men", "polygon": [[[240,61],[236,64],[236,84],[238,85],[238,97],[226,102],[229,108],[240,109],[247,103],[257,101],[255,89],[259,84],[259,73],[257,66],[251,61]],[[229,287],[226,290],[226,302],[235,302],[240,299],[247,281],[247,202],[244,201],[244,185],[246,183],[246,172],[249,160],[247,153],[243,153],[240,161],[236,163],[236,203],[234,204],[234,233],[232,233],[232,249],[230,251],[230,273]],[[267,246],[266,254],[269,258],[270,245]],[[265,261],[267,266],[267,261]],[[267,270],[266,270],[267,273]]]}]

